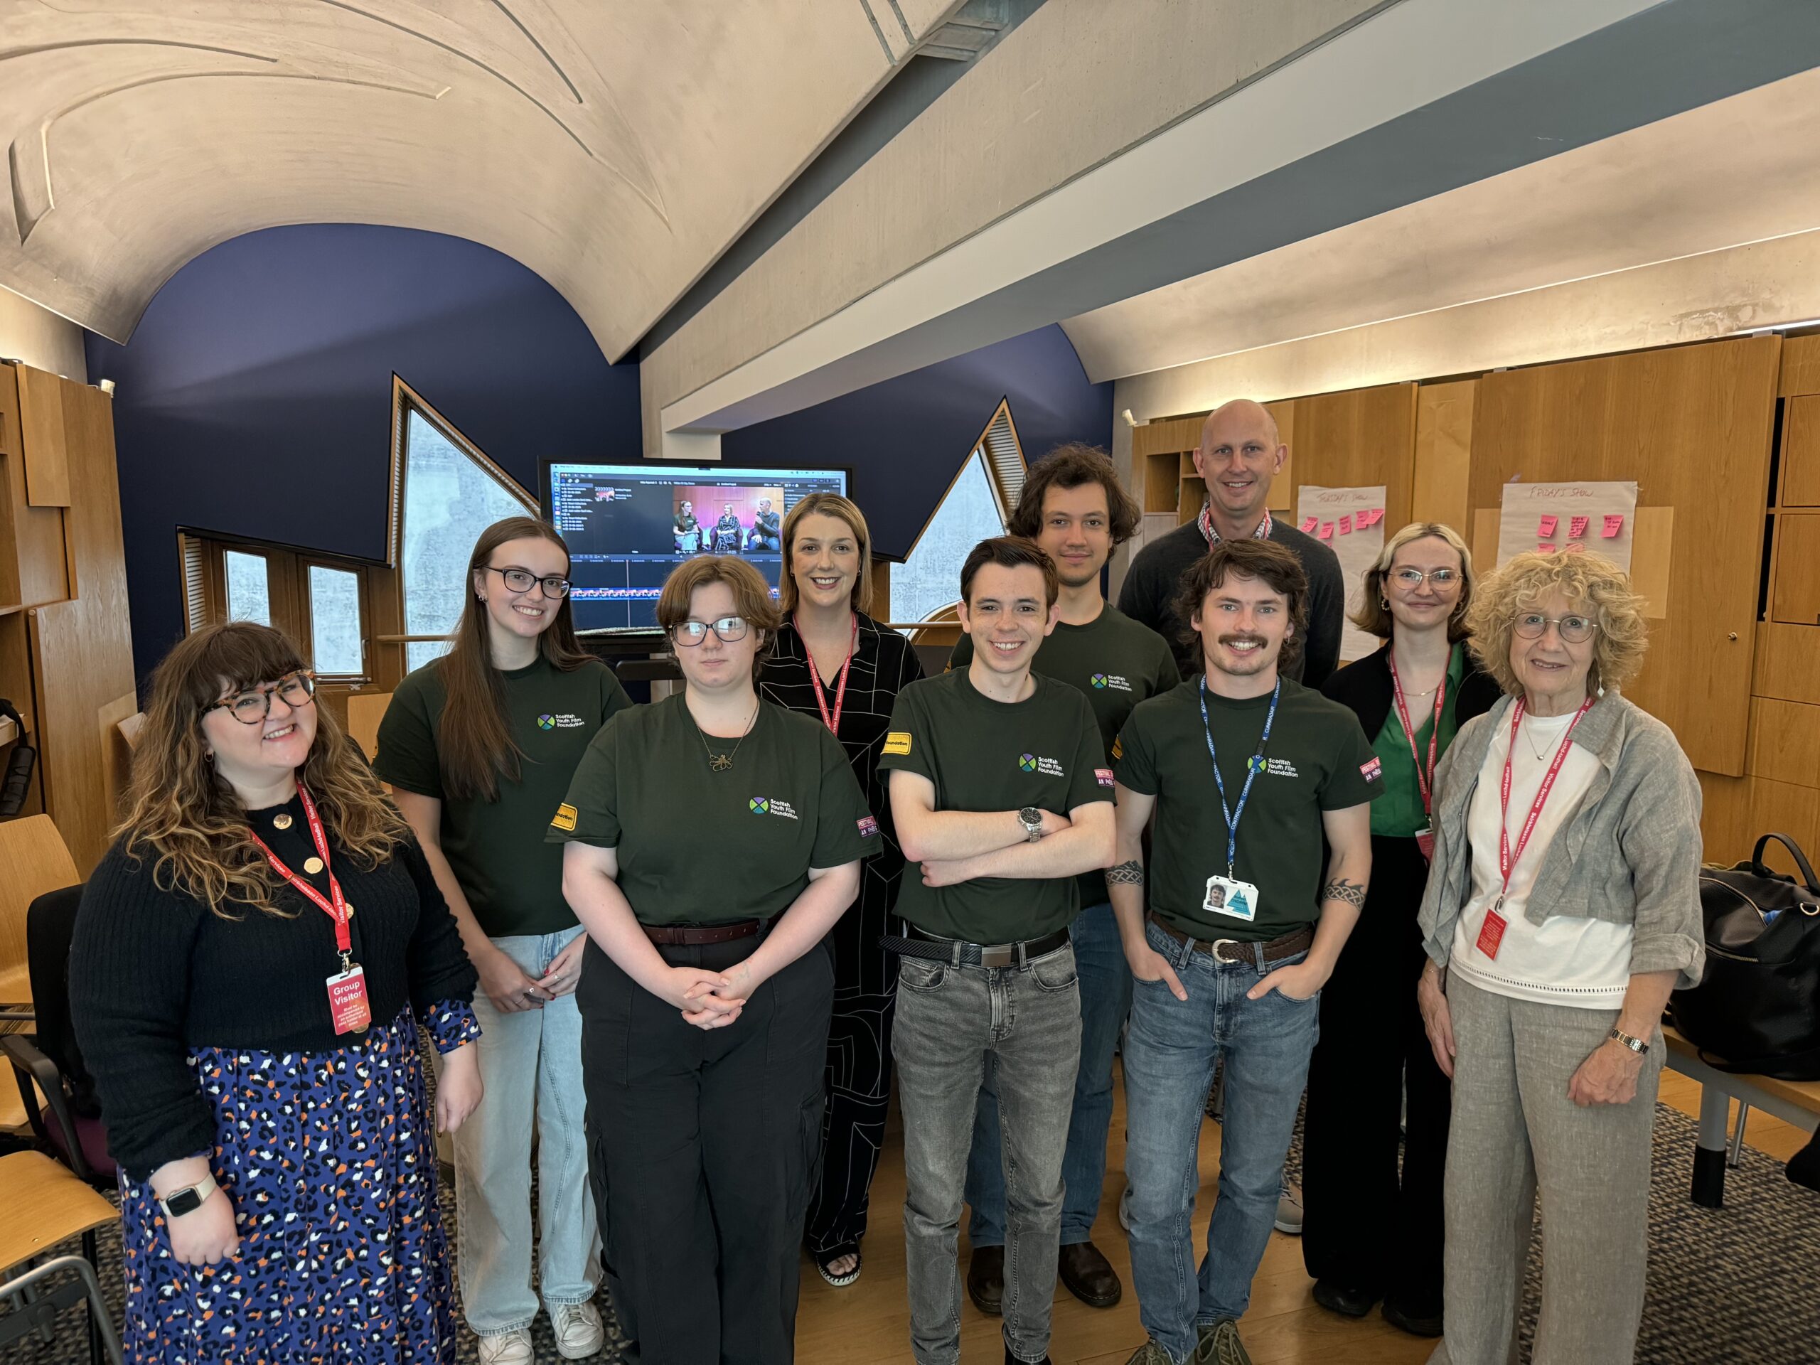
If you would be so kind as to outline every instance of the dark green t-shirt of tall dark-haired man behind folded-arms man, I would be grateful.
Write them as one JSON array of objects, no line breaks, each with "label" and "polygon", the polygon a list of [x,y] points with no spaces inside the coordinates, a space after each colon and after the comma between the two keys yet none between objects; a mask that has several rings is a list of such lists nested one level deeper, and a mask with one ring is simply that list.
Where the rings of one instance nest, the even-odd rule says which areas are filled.
[{"label": "dark green t-shirt of tall dark-haired man behind folded-arms man", "polygon": [[[948,655],[948,668],[961,672],[970,662],[974,662],[974,637],[961,635],[954,653]],[[1132,621],[1112,602],[1107,602],[1085,626],[1056,622],[1056,630],[1037,648],[1030,672],[1081,690],[1087,704],[1094,708],[1107,753],[1112,752],[1112,741],[1125,728],[1132,706],[1181,682],[1176,652],[1168,648],[1168,641]],[[1083,872],[1076,886],[1083,906],[1107,903],[1105,872]]]}]

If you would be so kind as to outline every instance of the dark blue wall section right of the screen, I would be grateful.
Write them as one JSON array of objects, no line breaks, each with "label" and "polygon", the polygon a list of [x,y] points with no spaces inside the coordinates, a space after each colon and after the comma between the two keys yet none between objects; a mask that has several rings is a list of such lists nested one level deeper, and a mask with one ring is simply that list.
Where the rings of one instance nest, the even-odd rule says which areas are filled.
[{"label": "dark blue wall section right of the screen", "polygon": [[786,417],[728,431],[728,464],[852,464],[881,555],[908,553],[999,400],[1025,459],[1065,440],[1112,442],[1112,384],[1088,384],[1057,326],[983,346]]}]

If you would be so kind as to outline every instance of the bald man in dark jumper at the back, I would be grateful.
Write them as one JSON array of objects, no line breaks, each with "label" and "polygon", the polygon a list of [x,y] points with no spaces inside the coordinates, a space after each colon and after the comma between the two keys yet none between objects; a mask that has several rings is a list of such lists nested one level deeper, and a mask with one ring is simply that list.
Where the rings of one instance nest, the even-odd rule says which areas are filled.
[{"label": "bald man in dark jumper at the back", "polygon": [[1167,639],[1183,675],[1201,672],[1201,644],[1188,622],[1176,615],[1181,575],[1218,541],[1247,537],[1287,546],[1309,575],[1309,633],[1301,659],[1283,675],[1320,688],[1340,666],[1340,622],[1347,606],[1340,559],[1312,535],[1269,511],[1270,480],[1281,473],[1285,459],[1289,446],[1263,404],[1234,399],[1210,411],[1194,451],[1194,470],[1207,484],[1201,515],[1147,544],[1125,573],[1119,612]]}]

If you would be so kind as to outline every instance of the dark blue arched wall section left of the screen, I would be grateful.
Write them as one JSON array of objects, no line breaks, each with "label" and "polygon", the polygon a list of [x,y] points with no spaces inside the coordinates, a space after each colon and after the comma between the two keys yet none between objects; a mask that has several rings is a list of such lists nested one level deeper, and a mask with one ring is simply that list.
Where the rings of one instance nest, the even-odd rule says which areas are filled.
[{"label": "dark blue arched wall section left of the screen", "polygon": [[249,233],[197,257],[131,342],[89,335],[113,379],[133,653],[184,630],[177,526],[380,559],[391,375],[531,493],[541,457],[639,457],[637,366],[490,248],[402,228]]}]

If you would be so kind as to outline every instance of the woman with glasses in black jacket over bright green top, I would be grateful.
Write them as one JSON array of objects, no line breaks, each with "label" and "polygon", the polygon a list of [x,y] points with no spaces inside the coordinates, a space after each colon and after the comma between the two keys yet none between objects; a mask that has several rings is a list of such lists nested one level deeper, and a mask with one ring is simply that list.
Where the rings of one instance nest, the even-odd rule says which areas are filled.
[{"label": "woman with glasses in black jacket over bright green top", "polygon": [[1316,1303],[1360,1318],[1383,1299],[1385,1320],[1418,1336],[1441,1332],[1449,1092],[1414,996],[1403,992],[1429,961],[1416,906],[1429,877],[1434,768],[1458,728],[1502,695],[1467,648],[1471,604],[1465,541],[1451,526],[1410,522],[1365,570],[1352,617],[1383,648],[1321,684],[1370,735],[1383,795],[1370,806],[1365,908],[1321,990],[1303,1121],[1301,1256]]}]

